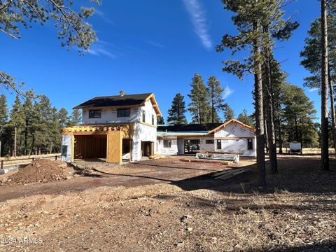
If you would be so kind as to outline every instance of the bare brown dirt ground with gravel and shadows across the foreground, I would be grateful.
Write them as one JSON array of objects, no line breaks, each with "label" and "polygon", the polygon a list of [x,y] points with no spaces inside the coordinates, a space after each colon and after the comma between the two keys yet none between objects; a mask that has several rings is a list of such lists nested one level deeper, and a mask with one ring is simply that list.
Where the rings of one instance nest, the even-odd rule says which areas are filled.
[{"label": "bare brown dirt ground with gravel and shadows across the foreground", "polygon": [[282,155],[265,188],[234,166],[251,172],[168,158],[1,186],[0,251],[336,251],[335,160]]}]

